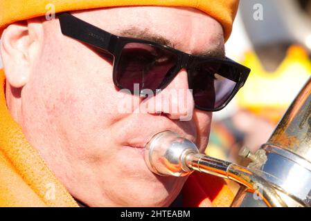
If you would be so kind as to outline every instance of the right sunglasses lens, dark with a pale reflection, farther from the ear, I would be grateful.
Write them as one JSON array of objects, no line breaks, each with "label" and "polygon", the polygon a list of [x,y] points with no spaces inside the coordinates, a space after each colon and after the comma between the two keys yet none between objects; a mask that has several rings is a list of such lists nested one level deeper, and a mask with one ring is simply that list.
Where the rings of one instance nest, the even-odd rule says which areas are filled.
[{"label": "right sunglasses lens, dark with a pale reflection, farther from the ear", "polygon": [[240,70],[231,64],[208,61],[193,71],[192,87],[195,105],[220,108],[232,95],[240,79]]}]

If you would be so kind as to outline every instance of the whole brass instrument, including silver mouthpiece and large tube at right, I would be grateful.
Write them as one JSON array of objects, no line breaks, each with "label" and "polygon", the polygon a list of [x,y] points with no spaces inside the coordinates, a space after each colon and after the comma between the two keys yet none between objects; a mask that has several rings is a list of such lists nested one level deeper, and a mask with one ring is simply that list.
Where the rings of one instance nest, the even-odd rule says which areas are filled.
[{"label": "whole brass instrument, including silver mouthpiece and large tube at right", "polygon": [[[311,78],[256,154],[243,148],[247,167],[199,153],[193,142],[164,131],[145,146],[145,162],[158,175],[193,171],[241,184],[231,206],[311,206]],[[256,196],[260,196],[259,198]]]}]

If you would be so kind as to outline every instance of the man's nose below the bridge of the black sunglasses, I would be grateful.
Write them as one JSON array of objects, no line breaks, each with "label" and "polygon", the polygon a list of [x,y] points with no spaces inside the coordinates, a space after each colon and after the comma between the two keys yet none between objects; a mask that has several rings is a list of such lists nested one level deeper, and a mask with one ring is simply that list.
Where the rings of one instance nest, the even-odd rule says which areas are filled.
[{"label": "man's nose below the bridge of the black sunglasses", "polygon": [[145,99],[143,104],[147,113],[165,114],[170,119],[190,120],[195,103],[189,90],[186,70],[182,69],[170,84],[156,95]]}]

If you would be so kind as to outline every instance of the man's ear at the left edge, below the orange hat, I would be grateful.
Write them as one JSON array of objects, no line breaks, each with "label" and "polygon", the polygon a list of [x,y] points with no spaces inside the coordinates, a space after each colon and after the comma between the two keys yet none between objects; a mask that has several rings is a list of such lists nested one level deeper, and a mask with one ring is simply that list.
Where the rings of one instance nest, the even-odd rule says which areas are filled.
[{"label": "man's ear at the left edge, below the orange hat", "polygon": [[42,47],[43,28],[39,19],[13,23],[1,37],[1,57],[8,84],[21,88],[28,82]]}]

